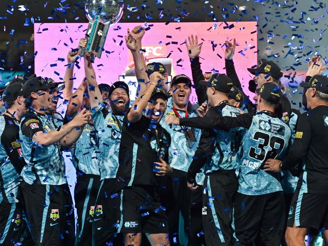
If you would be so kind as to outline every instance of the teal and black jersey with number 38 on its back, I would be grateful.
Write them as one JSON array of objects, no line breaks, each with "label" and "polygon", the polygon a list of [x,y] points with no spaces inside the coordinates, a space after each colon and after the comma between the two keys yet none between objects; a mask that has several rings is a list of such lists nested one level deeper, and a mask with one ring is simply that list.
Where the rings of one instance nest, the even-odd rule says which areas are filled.
[{"label": "teal and black jersey with number 38 on its back", "polygon": [[238,192],[245,195],[263,195],[282,191],[280,176],[265,172],[261,168],[268,158],[283,156],[291,137],[289,126],[267,111],[258,112],[254,116],[250,113],[236,117],[211,115],[182,119],[180,125],[188,124],[207,130],[215,128],[229,131],[238,127],[247,129],[242,138]]}]

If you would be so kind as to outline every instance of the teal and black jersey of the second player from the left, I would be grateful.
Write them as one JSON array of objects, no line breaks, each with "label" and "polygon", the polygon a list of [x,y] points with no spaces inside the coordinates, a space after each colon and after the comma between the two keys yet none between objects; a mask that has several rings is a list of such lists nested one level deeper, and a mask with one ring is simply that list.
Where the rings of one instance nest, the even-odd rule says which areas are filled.
[{"label": "teal and black jersey of the second player from the left", "polygon": [[63,126],[63,117],[59,113],[37,113],[28,111],[20,124],[22,152],[26,162],[21,176],[29,184],[60,185],[67,182],[65,163],[60,143],[43,146],[35,143],[32,136],[37,132],[49,132]]}]

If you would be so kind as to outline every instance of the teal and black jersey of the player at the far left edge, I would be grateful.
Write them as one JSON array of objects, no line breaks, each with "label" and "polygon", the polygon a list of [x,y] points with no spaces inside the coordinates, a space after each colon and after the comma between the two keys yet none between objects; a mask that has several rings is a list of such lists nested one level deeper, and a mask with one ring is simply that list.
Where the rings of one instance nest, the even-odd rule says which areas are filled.
[{"label": "teal and black jersey of the player at the far left edge", "polygon": [[0,115],[0,139],[0,203],[16,203],[18,186],[22,181],[20,173],[26,165],[16,118]]}]

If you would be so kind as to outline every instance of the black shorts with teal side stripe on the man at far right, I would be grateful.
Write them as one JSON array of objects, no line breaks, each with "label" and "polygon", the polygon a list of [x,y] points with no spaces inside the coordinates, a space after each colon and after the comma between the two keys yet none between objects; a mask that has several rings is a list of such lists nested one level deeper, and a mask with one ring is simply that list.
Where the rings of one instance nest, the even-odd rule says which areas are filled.
[{"label": "black shorts with teal side stripe on the man at far right", "polygon": [[[302,181],[302,180],[301,180]],[[305,193],[305,184],[298,184],[292,199],[287,226],[307,228],[310,234],[317,234],[328,227],[328,196]]]}]

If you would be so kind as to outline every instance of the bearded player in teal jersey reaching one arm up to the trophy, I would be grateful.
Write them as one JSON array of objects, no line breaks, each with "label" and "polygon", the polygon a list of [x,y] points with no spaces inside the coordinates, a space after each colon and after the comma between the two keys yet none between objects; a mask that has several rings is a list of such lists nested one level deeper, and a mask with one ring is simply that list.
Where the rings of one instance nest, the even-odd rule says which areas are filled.
[{"label": "bearded player in teal jersey reaching one arm up to the trophy", "polygon": [[99,169],[100,184],[98,194],[90,214],[93,216],[92,245],[113,243],[120,245],[116,238],[120,231],[121,192],[122,187],[116,179],[119,167],[119,147],[123,118],[130,105],[129,87],[126,83],[115,82],[108,92],[111,101],[111,111],[105,108],[101,91],[95,80],[90,56],[84,56],[85,75],[88,82],[88,93],[92,109],[92,120],[99,136]]}]

